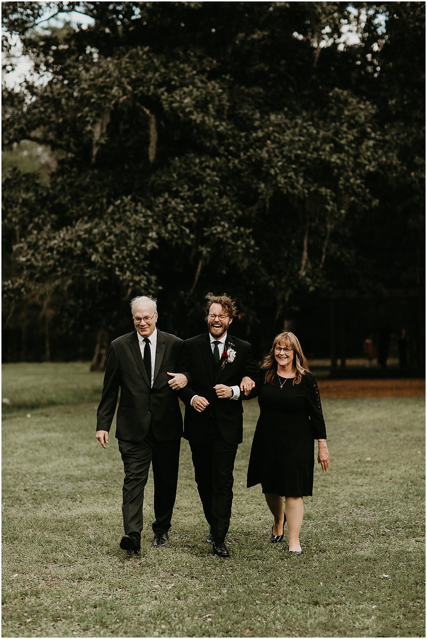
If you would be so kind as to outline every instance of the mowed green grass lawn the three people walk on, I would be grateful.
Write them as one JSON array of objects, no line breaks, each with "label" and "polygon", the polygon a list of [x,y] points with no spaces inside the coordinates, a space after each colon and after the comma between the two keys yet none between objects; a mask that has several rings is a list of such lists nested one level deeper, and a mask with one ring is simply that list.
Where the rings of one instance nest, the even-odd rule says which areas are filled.
[{"label": "mowed green grass lawn the three people walk on", "polygon": [[246,488],[256,400],[230,560],[204,543],[185,440],[169,544],[151,546],[150,479],[128,557],[117,442],[94,438],[102,377],[87,363],[3,366],[3,636],[425,636],[423,397],[324,399],[331,467],[316,464],[304,499],[301,557],[269,543],[260,487]]}]

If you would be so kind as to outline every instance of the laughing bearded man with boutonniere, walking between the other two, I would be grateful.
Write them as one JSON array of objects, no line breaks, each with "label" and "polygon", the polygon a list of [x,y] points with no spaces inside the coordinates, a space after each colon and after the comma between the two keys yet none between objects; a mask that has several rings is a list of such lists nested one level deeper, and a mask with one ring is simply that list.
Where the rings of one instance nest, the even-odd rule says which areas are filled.
[{"label": "laughing bearded man with boutonniere, walking between the other two", "polygon": [[247,342],[228,334],[236,305],[227,295],[207,298],[208,332],[184,342],[190,358],[191,387],[180,397],[186,405],[188,439],[213,552],[229,557],[225,535],[230,525],[233,470],[243,440],[242,399],[259,384],[257,365]]}]

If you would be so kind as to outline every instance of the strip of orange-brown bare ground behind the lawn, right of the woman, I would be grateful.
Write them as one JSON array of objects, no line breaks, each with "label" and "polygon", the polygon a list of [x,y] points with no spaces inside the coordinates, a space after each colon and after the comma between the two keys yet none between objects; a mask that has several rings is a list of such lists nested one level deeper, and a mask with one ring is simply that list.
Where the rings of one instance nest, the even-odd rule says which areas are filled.
[{"label": "strip of orange-brown bare ground behind the lawn, right of the woman", "polygon": [[321,397],[414,397],[425,396],[426,381],[393,380],[317,380]]}]

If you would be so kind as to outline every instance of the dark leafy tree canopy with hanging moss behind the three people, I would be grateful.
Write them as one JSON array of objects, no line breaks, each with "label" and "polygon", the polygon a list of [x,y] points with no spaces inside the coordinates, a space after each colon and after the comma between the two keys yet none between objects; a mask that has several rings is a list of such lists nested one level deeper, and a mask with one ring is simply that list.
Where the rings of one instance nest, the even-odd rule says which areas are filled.
[{"label": "dark leafy tree canopy with hanging moss behind the three people", "polygon": [[421,283],[424,3],[2,8],[34,62],[4,148],[56,158],[3,182],[8,323],[96,330],[98,366],[134,295],[186,337],[227,291],[269,341],[307,296]]}]

